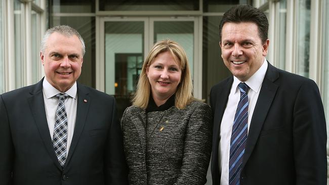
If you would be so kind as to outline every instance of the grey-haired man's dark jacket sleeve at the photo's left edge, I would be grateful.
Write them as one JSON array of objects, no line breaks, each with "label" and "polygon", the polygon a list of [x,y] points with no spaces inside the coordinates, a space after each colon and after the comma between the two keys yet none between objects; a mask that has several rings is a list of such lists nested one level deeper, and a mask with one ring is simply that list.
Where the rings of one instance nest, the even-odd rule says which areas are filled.
[{"label": "grey-haired man's dark jacket sleeve at the photo's left edge", "polygon": [[12,184],[14,146],[8,121],[8,113],[0,95],[0,184]]}]

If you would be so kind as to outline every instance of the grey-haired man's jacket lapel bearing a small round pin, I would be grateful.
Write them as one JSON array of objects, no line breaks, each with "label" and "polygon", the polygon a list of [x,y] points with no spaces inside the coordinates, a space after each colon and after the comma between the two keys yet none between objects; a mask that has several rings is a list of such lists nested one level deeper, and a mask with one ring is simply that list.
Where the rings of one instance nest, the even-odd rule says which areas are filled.
[{"label": "grey-haired man's jacket lapel bearing a small round pin", "polygon": [[89,91],[79,83],[77,85],[77,108],[76,108],[76,119],[74,132],[72,137],[71,146],[67,155],[67,159],[65,162],[65,166],[69,163],[74,149],[79,141],[80,135],[84,130],[86,118],[88,115],[89,105],[90,105],[90,97],[88,96]]}]

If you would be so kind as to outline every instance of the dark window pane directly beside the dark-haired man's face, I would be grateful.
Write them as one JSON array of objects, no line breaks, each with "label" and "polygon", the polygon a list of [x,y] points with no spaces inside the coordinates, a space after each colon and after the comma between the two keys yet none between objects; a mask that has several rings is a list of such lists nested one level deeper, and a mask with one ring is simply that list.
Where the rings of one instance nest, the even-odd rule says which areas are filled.
[{"label": "dark window pane directly beside the dark-haired man's face", "polygon": [[224,65],[219,46],[218,25],[222,17],[203,17],[202,99],[209,103],[210,89],[231,75]]}]

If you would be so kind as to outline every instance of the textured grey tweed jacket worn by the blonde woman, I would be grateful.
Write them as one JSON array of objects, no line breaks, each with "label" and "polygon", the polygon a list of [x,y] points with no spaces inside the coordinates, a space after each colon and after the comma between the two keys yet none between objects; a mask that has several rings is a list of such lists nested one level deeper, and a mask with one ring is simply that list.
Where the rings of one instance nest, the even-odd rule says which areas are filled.
[{"label": "textured grey tweed jacket worn by the blonde woman", "polygon": [[[147,121],[156,121],[150,135]],[[121,119],[130,184],[204,184],[211,155],[212,115],[194,101],[186,109],[148,112],[137,106]]]}]

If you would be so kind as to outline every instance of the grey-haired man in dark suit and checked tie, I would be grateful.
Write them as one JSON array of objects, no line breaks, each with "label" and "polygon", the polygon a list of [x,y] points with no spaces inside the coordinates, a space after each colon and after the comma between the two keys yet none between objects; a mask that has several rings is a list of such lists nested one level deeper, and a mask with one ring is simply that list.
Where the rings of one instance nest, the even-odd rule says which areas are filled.
[{"label": "grey-haired man in dark suit and checked tie", "polygon": [[114,98],[76,83],[85,44],[46,31],[45,78],[0,96],[0,184],[128,184]]}]

